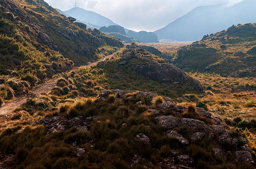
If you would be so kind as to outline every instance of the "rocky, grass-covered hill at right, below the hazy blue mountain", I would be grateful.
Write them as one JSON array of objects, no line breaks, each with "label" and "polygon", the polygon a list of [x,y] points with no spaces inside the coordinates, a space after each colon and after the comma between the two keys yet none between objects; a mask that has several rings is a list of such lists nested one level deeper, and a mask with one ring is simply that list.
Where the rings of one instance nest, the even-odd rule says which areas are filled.
[{"label": "rocky, grass-covered hill at right, below the hazy blue mountain", "polygon": [[256,77],[256,23],[231,26],[180,48],[174,64],[183,70]]}]

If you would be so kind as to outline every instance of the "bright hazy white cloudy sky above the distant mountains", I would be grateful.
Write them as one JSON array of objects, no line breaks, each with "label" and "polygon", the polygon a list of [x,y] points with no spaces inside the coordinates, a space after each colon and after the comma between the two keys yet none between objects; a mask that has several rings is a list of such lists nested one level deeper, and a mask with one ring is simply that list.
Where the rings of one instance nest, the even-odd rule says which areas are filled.
[{"label": "bright hazy white cloudy sky above the distant mountains", "polygon": [[[75,0],[45,0],[52,7],[68,10]],[[135,31],[155,31],[190,10],[202,6],[243,0],[76,0],[77,6],[110,18],[115,23]]]}]

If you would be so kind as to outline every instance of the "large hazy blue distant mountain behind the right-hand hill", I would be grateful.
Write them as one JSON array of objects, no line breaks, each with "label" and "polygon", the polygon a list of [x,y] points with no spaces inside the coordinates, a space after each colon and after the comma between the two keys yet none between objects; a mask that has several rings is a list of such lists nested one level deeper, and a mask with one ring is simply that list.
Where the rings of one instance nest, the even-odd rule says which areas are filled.
[{"label": "large hazy blue distant mountain behind the right-hand hill", "polygon": [[160,39],[196,41],[206,34],[227,29],[232,24],[256,22],[256,1],[245,0],[233,6],[202,6],[155,31]]}]

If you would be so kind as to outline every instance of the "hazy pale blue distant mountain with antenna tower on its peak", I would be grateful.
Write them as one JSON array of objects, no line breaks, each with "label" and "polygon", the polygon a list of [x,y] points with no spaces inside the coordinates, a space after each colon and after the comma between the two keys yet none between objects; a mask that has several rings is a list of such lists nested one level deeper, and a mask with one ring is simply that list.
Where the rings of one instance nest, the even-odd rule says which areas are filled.
[{"label": "hazy pale blue distant mountain with antenna tower on its peak", "polygon": [[77,20],[91,23],[92,25],[97,25],[97,26],[110,26],[110,25],[117,25],[114,23],[112,20],[109,18],[106,18],[104,16],[101,16],[100,14],[97,14],[92,11],[87,11],[82,8],[72,8],[68,11],[63,11],[63,13],[72,16],[76,18]]}]

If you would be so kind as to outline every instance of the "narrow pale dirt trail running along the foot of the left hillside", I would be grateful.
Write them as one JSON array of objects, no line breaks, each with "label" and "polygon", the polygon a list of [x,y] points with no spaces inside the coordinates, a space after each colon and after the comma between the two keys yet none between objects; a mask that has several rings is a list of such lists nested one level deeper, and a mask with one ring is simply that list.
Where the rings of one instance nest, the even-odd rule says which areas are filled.
[{"label": "narrow pale dirt trail running along the foot of the left hillside", "polygon": [[[112,55],[108,55],[108,56],[104,57],[103,59],[101,59],[101,60],[99,60],[97,62],[89,63],[88,65],[81,66],[81,67],[95,66],[99,62],[105,61],[106,59],[109,59],[112,56],[113,56],[113,54]],[[75,68],[75,69],[78,69],[78,68]],[[72,69],[72,71],[73,70],[74,69]],[[49,91],[51,91],[56,86],[56,84],[57,84],[57,79],[53,79],[53,80],[50,80],[50,81],[48,81],[46,83],[43,83],[43,84],[39,85],[38,87],[33,88],[33,90],[31,90],[31,92],[34,93],[34,94],[40,94],[40,93],[43,93],[43,92],[49,92]],[[14,99],[14,100],[11,100],[11,101],[5,103],[2,107],[0,107],[0,117],[12,115],[12,112],[16,108],[18,108],[20,105],[25,103],[26,101],[27,101],[27,98],[23,96],[23,97],[18,97],[18,98]]]}]

